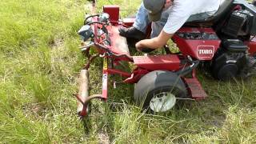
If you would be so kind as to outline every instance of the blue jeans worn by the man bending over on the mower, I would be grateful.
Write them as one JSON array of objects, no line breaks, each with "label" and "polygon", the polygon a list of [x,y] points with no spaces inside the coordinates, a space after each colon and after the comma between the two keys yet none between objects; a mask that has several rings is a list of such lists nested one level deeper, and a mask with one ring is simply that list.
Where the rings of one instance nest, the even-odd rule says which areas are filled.
[{"label": "blue jeans worn by the man bending over on the mower", "polygon": [[[168,19],[169,13],[167,10],[162,12],[161,19],[158,22],[152,22],[151,24],[151,38],[157,37],[158,34],[162,31],[163,26],[165,26],[167,19]],[[186,22],[192,22],[195,20],[203,20],[206,18],[209,18],[210,15],[207,13],[201,13],[201,14],[194,14],[191,15],[190,18]],[[150,24],[150,20],[148,18],[148,12],[146,8],[143,5],[143,2],[141,6],[138,9],[138,12],[136,14],[135,22],[134,22],[134,27],[143,33],[146,33],[146,28]]]}]

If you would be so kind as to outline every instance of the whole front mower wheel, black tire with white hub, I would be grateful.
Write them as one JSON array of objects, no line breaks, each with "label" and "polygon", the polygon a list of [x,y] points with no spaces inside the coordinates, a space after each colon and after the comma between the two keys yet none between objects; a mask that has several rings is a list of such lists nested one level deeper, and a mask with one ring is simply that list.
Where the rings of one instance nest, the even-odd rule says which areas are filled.
[{"label": "whole front mower wheel, black tire with white hub", "polygon": [[170,71],[152,71],[144,75],[134,87],[135,102],[151,112],[172,109],[176,98],[187,98],[186,86],[182,78]]}]

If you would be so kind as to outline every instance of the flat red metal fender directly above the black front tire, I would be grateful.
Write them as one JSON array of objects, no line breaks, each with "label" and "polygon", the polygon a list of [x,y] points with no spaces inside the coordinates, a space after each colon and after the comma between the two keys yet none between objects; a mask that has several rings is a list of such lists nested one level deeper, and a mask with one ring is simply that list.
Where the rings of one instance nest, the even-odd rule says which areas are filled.
[{"label": "flat red metal fender directly above the black front tire", "polygon": [[134,56],[134,65],[146,70],[178,70],[180,60],[176,54]]}]

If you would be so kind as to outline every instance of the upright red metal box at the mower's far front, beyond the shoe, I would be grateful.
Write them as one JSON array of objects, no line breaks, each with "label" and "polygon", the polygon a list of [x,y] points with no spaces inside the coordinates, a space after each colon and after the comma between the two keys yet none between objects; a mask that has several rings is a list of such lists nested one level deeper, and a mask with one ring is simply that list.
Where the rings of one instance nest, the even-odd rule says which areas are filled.
[{"label": "upright red metal box at the mower's far front, beyond the shoe", "polygon": [[107,5],[103,6],[103,12],[110,14],[110,21],[118,22],[119,20],[119,6]]}]

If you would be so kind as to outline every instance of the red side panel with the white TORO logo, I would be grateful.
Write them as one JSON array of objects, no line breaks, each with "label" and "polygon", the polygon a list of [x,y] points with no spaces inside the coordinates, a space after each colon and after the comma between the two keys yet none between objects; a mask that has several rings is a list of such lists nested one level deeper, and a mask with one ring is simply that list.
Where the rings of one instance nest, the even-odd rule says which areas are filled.
[{"label": "red side panel with the white TORO logo", "polygon": [[[211,28],[183,27],[178,33],[207,33],[215,34]],[[211,60],[221,43],[220,39],[186,39],[174,34],[172,38],[183,55],[190,55],[198,60]]]}]

